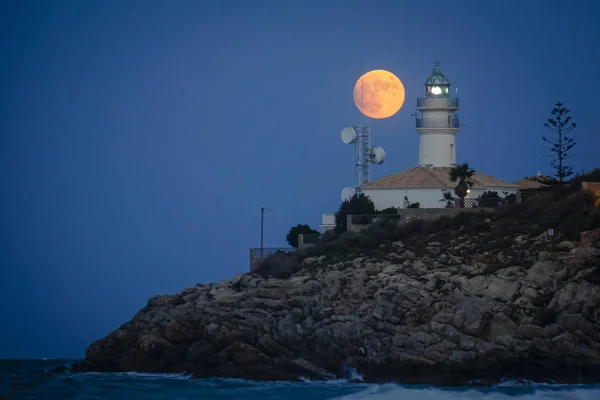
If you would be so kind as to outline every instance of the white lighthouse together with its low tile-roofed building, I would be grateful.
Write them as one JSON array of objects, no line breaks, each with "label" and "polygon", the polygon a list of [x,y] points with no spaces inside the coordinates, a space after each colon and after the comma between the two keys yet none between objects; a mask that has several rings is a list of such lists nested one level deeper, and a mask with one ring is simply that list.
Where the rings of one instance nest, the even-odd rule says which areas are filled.
[{"label": "white lighthouse together with its low tile-roofed building", "polygon": [[[444,191],[449,190],[454,196],[456,182],[450,181],[448,172],[456,165],[459,102],[457,97],[452,97],[450,81],[441,72],[439,63],[425,82],[425,97],[417,99],[417,110],[419,164],[359,188],[378,210],[404,207],[405,196],[410,203],[418,202],[420,208],[444,208]],[[495,191],[503,197],[516,194],[518,190],[514,183],[481,172],[476,172],[471,181],[473,186],[467,199],[477,198],[485,191]],[[335,226],[335,221],[333,223]],[[321,229],[327,230],[331,226],[331,214],[323,214]]]}]

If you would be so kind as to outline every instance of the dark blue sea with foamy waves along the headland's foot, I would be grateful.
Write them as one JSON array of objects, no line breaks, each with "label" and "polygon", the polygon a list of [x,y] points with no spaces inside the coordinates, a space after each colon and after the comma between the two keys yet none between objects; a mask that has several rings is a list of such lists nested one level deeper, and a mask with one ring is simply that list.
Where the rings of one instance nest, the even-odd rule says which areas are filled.
[{"label": "dark blue sea with foamy waves along the headland's foot", "polygon": [[600,385],[535,384],[506,381],[491,387],[435,387],[327,382],[257,382],[192,379],[185,374],[50,373],[71,360],[0,360],[1,400],[192,400],[192,399],[403,399],[403,400],[599,400]]}]

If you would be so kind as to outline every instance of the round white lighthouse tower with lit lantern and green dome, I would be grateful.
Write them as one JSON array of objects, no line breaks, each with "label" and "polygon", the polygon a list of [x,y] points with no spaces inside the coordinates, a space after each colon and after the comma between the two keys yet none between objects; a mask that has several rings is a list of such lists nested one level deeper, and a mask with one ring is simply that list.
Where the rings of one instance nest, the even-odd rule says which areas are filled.
[{"label": "round white lighthouse tower with lit lantern and green dome", "polygon": [[451,96],[450,81],[436,62],[425,82],[425,97],[417,98],[419,165],[449,167],[456,164],[458,108],[458,97]]}]

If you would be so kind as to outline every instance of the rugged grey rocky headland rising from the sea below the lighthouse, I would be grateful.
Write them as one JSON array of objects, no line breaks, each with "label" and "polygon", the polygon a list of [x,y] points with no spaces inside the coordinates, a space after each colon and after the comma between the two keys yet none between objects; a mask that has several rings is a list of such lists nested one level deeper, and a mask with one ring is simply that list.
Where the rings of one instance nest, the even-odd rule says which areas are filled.
[{"label": "rugged grey rocky headland rising from the sea below the lighthouse", "polygon": [[[588,228],[598,228],[594,215]],[[335,256],[271,260],[296,263],[285,279],[240,274],[153,297],[73,369],[295,380],[353,367],[371,382],[600,382],[600,229],[571,240],[559,229],[550,240],[544,227],[507,218],[438,221],[437,234],[374,227],[385,234],[366,247],[354,236]]]}]

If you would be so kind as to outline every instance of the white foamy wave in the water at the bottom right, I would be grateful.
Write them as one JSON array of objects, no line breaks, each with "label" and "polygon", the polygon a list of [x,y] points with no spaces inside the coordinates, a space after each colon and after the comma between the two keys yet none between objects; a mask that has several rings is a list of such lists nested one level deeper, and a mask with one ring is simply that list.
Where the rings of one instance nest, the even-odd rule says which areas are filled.
[{"label": "white foamy wave in the water at the bottom right", "polygon": [[[513,388],[515,386],[512,386]],[[412,388],[396,384],[373,385],[355,394],[333,397],[331,400],[598,400],[600,388],[573,385],[535,385],[525,386],[522,394],[504,393],[500,388],[494,390],[462,389],[444,390],[440,388]],[[492,390],[490,390],[492,389]]]}]

